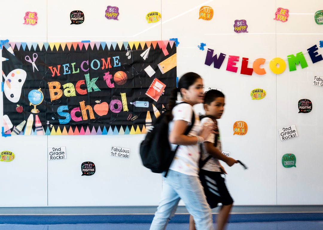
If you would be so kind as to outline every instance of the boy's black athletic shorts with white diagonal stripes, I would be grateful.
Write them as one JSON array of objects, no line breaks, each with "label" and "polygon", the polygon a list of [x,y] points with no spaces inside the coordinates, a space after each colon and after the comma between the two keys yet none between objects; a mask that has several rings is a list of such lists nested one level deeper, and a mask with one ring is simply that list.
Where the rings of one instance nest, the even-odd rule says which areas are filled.
[{"label": "boy's black athletic shorts with white diagonal stripes", "polygon": [[221,172],[201,169],[199,176],[204,187],[207,203],[211,208],[218,206],[218,203],[222,203],[222,205],[231,205],[233,203]]}]

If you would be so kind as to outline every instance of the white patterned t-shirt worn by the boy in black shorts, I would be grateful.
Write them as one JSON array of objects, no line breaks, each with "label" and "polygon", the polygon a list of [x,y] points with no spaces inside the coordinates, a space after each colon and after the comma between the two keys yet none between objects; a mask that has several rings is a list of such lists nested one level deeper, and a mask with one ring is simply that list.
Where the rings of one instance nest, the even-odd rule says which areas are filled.
[{"label": "white patterned t-shirt worn by the boy in black shorts", "polygon": [[[213,122],[213,120],[209,117],[205,117],[201,120],[201,127],[203,127],[203,125],[207,122]],[[214,144],[214,136],[215,134],[211,133],[205,141],[207,142],[211,142]],[[220,141],[220,135],[218,136],[218,142],[216,145],[216,148],[221,152],[222,151],[222,146],[221,146],[221,141]],[[201,155],[201,159],[205,160],[207,157],[209,156],[209,154],[206,152],[205,150],[205,144],[202,143],[202,155]],[[206,163],[205,165],[202,167],[203,170],[206,171],[212,171],[212,172],[221,172],[221,168],[220,168],[220,164],[219,164],[219,160],[211,157]]]}]

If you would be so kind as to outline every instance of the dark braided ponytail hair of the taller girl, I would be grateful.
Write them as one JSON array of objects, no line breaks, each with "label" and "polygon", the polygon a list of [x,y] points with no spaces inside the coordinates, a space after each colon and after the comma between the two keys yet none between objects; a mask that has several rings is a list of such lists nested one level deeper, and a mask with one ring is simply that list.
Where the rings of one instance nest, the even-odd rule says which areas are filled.
[{"label": "dark braided ponytail hair of the taller girl", "polygon": [[[182,77],[180,78],[180,80],[178,81],[178,87],[174,88],[171,92],[171,97],[169,99],[168,102],[168,107],[167,107],[167,114],[166,114],[166,120],[167,122],[170,122],[173,119],[173,115],[172,115],[172,110],[176,105],[176,101],[177,101],[177,93],[180,92],[181,93],[181,89],[188,89],[191,85],[193,85],[197,79],[201,78],[200,75],[198,75],[197,73],[193,73],[193,72],[189,72],[186,73],[184,75],[182,75]],[[181,96],[182,93],[181,93]]]}]

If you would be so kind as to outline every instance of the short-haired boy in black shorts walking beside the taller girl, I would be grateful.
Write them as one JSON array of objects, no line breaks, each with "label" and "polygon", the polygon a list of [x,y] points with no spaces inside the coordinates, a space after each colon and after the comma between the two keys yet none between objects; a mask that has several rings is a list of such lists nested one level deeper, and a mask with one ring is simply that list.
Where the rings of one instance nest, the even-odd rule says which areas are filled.
[{"label": "short-haired boy in black shorts walking beside the taller girl", "polygon": [[[226,172],[219,160],[224,161],[229,166],[238,162],[221,153],[220,133],[216,119],[220,119],[224,111],[224,94],[218,90],[207,91],[204,97],[204,110],[205,115],[200,117],[201,125],[214,122],[217,134],[210,134],[201,144],[199,176],[210,207],[215,208],[218,203],[222,203],[217,218],[217,229],[222,230],[233,205],[233,199],[225,185],[224,178],[221,176]],[[190,230],[195,230],[193,216],[190,216]]]}]

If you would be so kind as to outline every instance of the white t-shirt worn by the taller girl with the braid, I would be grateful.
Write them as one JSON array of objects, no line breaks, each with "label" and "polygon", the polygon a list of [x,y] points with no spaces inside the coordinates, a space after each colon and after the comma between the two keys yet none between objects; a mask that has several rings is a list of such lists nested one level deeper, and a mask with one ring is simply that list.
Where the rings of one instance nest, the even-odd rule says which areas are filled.
[{"label": "white t-shirt worn by the taller girl with the braid", "polygon": [[[193,107],[189,104],[179,104],[176,105],[173,110],[172,114],[174,116],[173,120],[169,123],[169,133],[174,128],[174,122],[176,120],[184,120],[188,122],[188,126],[191,125],[192,121],[192,112]],[[199,115],[194,113],[195,115],[195,122],[188,133],[188,136],[197,136],[199,135],[202,127],[200,126],[200,118]],[[173,145],[172,150],[176,149],[177,145]],[[198,162],[200,160],[200,146],[199,145],[180,145],[176,151],[174,160],[169,169],[180,172],[182,174],[191,175],[191,176],[198,176],[199,167]]]}]

